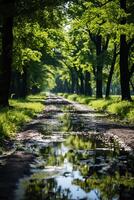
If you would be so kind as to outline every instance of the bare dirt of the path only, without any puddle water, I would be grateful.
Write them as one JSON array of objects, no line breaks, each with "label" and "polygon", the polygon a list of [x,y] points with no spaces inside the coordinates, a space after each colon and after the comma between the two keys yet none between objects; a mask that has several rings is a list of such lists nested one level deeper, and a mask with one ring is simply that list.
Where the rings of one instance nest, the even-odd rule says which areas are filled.
[{"label": "bare dirt of the path only, without any puddle water", "polygon": [[[14,200],[13,195],[18,180],[30,173],[30,164],[36,157],[35,147],[45,146],[55,139],[60,139],[58,136],[55,138],[55,135],[52,135],[51,140],[48,140],[42,134],[42,131],[56,133],[57,127],[62,126],[62,121],[55,124],[54,116],[61,112],[58,105],[70,105],[72,107],[76,121],[73,127],[74,132],[81,132],[81,128],[86,133],[100,132],[107,140],[116,137],[122,147],[134,149],[134,127],[109,122],[105,115],[87,106],[54,95],[45,100],[45,105],[44,112],[17,134],[15,141],[13,141],[15,144],[14,153],[0,157],[0,200]],[[47,121],[49,122],[51,118],[52,130],[47,130]]]}]

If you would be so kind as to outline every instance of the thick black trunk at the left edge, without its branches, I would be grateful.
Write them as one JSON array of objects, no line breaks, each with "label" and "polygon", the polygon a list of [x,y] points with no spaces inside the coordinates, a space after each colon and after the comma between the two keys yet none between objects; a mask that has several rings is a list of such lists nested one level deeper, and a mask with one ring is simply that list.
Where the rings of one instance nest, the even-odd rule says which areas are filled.
[{"label": "thick black trunk at the left edge, without its branches", "polygon": [[0,68],[0,106],[9,106],[13,49],[13,17],[4,16],[2,24],[2,56]]}]

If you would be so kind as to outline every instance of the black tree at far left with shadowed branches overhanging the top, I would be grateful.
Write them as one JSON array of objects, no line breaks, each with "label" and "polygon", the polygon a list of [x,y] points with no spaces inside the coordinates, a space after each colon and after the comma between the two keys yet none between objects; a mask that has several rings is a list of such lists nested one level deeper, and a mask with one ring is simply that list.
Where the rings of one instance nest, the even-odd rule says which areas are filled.
[{"label": "black tree at far left with shadowed branches overhanging the top", "polygon": [[[0,71],[0,106],[9,106],[9,90],[12,69],[13,21],[15,16],[33,15],[45,6],[56,6],[66,1],[33,1],[33,0],[1,0],[0,13],[2,18],[2,58]],[[30,16],[29,16],[30,17]]]}]

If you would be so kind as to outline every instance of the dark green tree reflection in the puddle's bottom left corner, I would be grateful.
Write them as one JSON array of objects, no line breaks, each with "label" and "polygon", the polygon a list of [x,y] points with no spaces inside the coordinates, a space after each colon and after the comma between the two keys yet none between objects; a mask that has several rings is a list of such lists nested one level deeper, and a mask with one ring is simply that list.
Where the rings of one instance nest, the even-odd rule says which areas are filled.
[{"label": "dark green tree reflection in the puddle's bottom left corner", "polygon": [[70,199],[70,190],[62,190],[54,178],[31,179],[25,182],[25,198],[23,200],[60,200]]}]

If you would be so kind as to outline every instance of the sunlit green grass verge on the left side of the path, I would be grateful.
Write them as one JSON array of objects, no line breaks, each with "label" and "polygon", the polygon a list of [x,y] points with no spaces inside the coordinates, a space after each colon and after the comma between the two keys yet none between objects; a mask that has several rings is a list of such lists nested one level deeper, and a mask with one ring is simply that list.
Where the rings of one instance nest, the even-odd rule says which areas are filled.
[{"label": "sunlit green grass verge on the left side of the path", "polygon": [[21,127],[44,109],[44,95],[28,96],[27,99],[10,100],[13,108],[0,109],[0,141],[12,138]]}]

